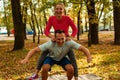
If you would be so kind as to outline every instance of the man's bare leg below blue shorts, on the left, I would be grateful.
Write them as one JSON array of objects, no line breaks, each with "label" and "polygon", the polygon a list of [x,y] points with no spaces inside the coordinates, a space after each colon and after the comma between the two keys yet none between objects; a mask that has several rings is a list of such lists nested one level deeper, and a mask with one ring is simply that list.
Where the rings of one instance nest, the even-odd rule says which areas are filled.
[{"label": "man's bare leg below blue shorts, on the left", "polygon": [[48,78],[48,71],[50,70],[49,64],[44,64],[42,68],[42,80],[47,80]]}]

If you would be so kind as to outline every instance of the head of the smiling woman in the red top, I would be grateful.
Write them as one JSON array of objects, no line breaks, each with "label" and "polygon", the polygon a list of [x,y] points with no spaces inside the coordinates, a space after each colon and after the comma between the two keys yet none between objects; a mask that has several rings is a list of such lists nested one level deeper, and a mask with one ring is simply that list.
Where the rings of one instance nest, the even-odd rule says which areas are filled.
[{"label": "head of the smiling woman in the red top", "polygon": [[64,14],[64,4],[62,3],[56,4],[54,11],[57,17],[61,17]]}]

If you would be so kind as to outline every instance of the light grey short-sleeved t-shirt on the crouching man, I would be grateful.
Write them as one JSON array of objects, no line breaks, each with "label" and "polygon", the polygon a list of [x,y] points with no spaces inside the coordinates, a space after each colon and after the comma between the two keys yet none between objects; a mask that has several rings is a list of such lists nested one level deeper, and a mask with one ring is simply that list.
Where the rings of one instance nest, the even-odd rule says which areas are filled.
[{"label": "light grey short-sleeved t-shirt on the crouching man", "polygon": [[52,42],[51,40],[40,45],[39,48],[41,51],[49,50],[48,56],[52,57],[56,61],[60,61],[70,49],[78,49],[81,45],[76,43],[73,40],[65,41],[63,46],[59,47],[57,43]]}]

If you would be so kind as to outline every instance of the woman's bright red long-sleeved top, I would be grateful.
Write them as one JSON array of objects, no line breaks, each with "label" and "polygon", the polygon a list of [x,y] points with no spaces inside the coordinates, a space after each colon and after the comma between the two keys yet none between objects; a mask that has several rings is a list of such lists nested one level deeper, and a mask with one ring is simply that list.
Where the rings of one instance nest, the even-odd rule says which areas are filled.
[{"label": "woman's bright red long-sleeved top", "polygon": [[65,35],[69,36],[69,32],[68,32],[69,26],[72,29],[71,36],[75,37],[75,35],[77,34],[77,27],[68,16],[62,16],[61,20],[58,20],[56,16],[51,16],[45,28],[45,35],[48,36],[50,34],[50,29],[53,27],[54,30],[59,30],[59,29],[64,30]]}]

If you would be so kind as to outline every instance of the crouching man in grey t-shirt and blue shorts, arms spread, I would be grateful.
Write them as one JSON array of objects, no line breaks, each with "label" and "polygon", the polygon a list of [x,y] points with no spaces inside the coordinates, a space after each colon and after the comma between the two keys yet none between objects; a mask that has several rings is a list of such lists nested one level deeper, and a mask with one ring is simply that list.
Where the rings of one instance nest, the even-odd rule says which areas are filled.
[{"label": "crouching man in grey t-shirt and blue shorts, arms spread", "polygon": [[76,43],[73,40],[65,41],[65,34],[63,30],[55,31],[55,39],[56,42],[50,40],[30,50],[27,56],[21,61],[21,63],[27,63],[29,61],[29,58],[38,51],[49,50],[50,53],[45,58],[42,66],[42,80],[47,80],[48,71],[54,64],[62,66],[67,71],[68,80],[71,80],[74,75],[74,68],[66,55],[69,50],[77,49],[82,51],[86,55],[88,62],[92,60],[92,57],[89,50],[84,46]]}]

